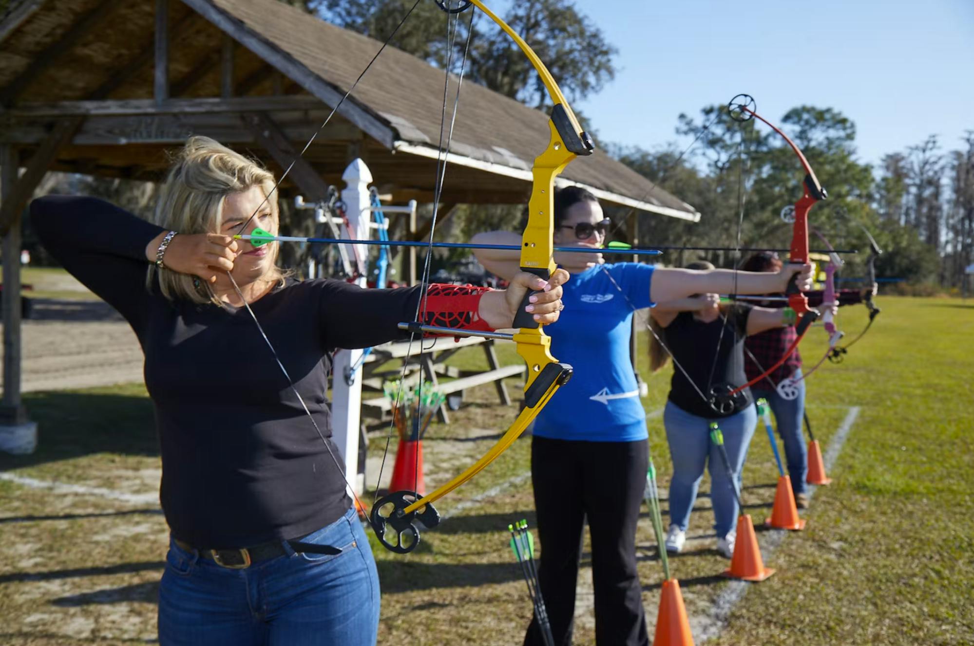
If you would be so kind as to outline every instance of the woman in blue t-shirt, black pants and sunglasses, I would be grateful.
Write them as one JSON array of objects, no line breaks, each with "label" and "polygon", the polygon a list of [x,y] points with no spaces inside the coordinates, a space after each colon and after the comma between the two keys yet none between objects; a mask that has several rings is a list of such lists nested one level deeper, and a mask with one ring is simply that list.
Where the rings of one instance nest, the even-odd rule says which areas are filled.
[{"label": "woman in blue t-shirt, black pants and sunglasses", "polygon": [[[554,242],[601,248],[610,220],[581,187],[555,193]],[[479,233],[475,243],[520,244],[512,232]],[[517,252],[477,250],[477,260],[502,278],[519,268]],[[730,269],[656,269],[639,263],[604,264],[600,254],[559,253],[572,274],[565,310],[544,328],[559,361],[575,368],[538,416],[531,473],[543,546],[539,577],[556,643],[571,643],[581,538],[591,533],[596,643],[649,644],[636,571],[636,521],[646,486],[646,412],[629,359],[633,311],[692,294],[767,294],[784,291],[792,274],[810,286],[810,266],[778,273]],[[525,644],[542,644],[532,622]]]}]

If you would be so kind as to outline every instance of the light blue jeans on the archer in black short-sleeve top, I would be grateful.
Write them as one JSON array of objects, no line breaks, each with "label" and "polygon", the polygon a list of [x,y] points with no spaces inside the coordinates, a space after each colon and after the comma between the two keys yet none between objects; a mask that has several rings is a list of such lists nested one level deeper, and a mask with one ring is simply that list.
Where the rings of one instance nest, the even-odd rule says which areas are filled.
[{"label": "light blue jeans on the archer in black short-sleeve top", "polygon": [[696,489],[703,478],[706,464],[710,472],[710,499],[714,507],[714,530],[719,538],[727,536],[737,524],[737,500],[733,484],[719,449],[710,441],[710,422],[716,421],[724,434],[724,447],[731,460],[740,490],[740,472],[747,457],[747,448],[758,425],[758,412],[749,406],[730,417],[707,418],[687,413],[672,402],[666,403],[663,425],[666,441],[673,459],[673,478],[670,480],[670,524],[684,531],[690,523],[690,512],[696,500]]}]

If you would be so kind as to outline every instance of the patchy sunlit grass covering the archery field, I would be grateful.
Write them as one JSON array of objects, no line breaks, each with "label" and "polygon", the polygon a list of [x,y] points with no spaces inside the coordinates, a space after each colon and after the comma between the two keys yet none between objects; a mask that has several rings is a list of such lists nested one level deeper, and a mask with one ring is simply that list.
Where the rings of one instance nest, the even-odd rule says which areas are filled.
[{"label": "patchy sunlit grass covering the archery field", "polygon": [[[766,556],[777,573],[748,587],[728,626],[708,643],[974,643],[974,306],[882,297],[880,305],[880,318],[845,362],[825,365],[807,381],[808,413],[823,449],[849,407],[861,407],[829,474],[835,482],[815,493],[805,531],[789,533]],[[839,324],[857,334],[865,324],[862,308],[843,308]],[[802,346],[807,362],[824,352],[824,337],[818,329],[809,333]],[[502,363],[516,360],[509,345],[500,354]],[[650,385],[643,404],[653,412],[665,402],[670,371],[651,376],[645,356],[640,361]],[[461,353],[454,364],[485,368],[478,348]],[[474,389],[449,426],[431,427],[424,443],[428,488],[459,473],[496,441],[516,414],[515,407],[496,401],[492,386]],[[141,386],[36,393],[26,403],[41,424],[40,449],[0,458],[0,470],[132,492],[158,484],[152,410]],[[651,418],[649,426],[665,487],[670,468],[661,419]],[[381,452],[384,439],[383,433],[373,437],[371,449]],[[393,441],[390,459],[394,449]],[[373,542],[383,588],[379,643],[521,641],[530,602],[507,548],[506,525],[521,518],[534,525],[530,482],[516,480],[529,469],[529,449],[530,440],[515,443],[444,497],[437,507],[448,518],[423,533],[415,553],[393,555]],[[369,486],[375,476],[367,475]],[[756,523],[769,511],[775,477],[759,429],[743,494]],[[505,486],[512,480],[520,484]],[[497,495],[451,513],[494,486],[500,486]],[[708,488],[705,480],[701,493]],[[710,533],[708,508],[701,497],[691,536]],[[661,571],[646,519],[637,543],[652,635]],[[727,561],[713,543],[691,541],[686,554],[671,560],[692,616],[705,614],[727,585],[715,576]],[[164,520],[151,509],[0,481],[0,642],[153,638],[165,546]],[[589,565],[586,547],[584,576]],[[37,579],[27,579],[31,573]],[[579,605],[575,643],[590,644],[590,594],[582,592]]]}]

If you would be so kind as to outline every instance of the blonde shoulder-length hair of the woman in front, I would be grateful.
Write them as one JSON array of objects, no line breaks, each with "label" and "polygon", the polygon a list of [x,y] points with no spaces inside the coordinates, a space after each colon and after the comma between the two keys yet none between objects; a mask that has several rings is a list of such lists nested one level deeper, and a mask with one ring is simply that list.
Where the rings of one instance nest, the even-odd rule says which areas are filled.
[{"label": "blonde shoulder-length hair of the woman in front", "polygon": [[[153,222],[178,233],[219,233],[226,197],[259,186],[275,222],[278,223],[278,192],[274,175],[260,163],[234,152],[209,137],[190,137],[175,156],[166,183],[160,191]],[[283,280],[277,267],[279,245],[268,245],[271,269],[262,276],[272,282]],[[149,268],[146,285],[151,288],[158,276],[159,287],[169,301],[221,305],[209,285],[195,276],[171,269]]]}]

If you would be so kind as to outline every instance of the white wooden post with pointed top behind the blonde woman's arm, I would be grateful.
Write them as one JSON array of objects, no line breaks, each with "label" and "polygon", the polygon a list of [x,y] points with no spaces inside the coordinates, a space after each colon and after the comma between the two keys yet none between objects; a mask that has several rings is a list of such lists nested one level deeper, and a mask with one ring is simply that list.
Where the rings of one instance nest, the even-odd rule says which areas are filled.
[{"label": "white wooden post with pointed top behind the blonde woman's arm", "polygon": [[[370,234],[369,222],[372,213],[369,210],[370,199],[368,186],[372,182],[372,173],[361,160],[350,163],[342,173],[346,188],[342,191],[342,201],[345,202],[346,215],[349,218],[349,229],[356,239],[367,239]],[[342,232],[347,237],[347,232]],[[356,258],[353,245],[346,245],[349,257]],[[359,247],[358,258],[365,258],[364,247]],[[364,264],[364,263],[363,263]],[[366,267],[359,267],[356,284],[365,286]],[[362,382],[360,370],[352,375],[352,366],[361,358],[362,350],[342,349],[335,352],[332,366],[331,396],[333,415],[333,440],[345,460],[345,474],[355,489],[361,493],[365,488],[365,474],[358,473],[358,434],[361,423],[361,394]],[[351,383],[349,381],[351,380]]]}]

